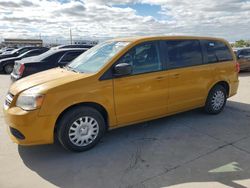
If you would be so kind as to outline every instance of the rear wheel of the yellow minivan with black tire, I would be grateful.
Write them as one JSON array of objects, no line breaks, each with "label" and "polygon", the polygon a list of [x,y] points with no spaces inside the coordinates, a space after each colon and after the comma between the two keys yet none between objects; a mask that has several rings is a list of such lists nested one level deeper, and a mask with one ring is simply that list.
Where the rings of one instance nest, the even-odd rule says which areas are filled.
[{"label": "rear wheel of the yellow minivan with black tire", "polygon": [[[217,102],[215,98],[216,96],[218,97],[218,95],[220,95],[220,99],[218,99]],[[208,94],[205,104],[205,111],[209,114],[219,114],[224,109],[226,101],[226,89],[222,85],[215,85]]]}]

